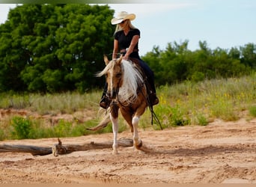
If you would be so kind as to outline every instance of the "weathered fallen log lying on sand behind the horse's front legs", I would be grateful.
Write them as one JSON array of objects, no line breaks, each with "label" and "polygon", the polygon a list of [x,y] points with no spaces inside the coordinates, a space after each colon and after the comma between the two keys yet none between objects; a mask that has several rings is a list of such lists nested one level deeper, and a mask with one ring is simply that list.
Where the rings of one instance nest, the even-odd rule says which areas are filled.
[{"label": "weathered fallen log lying on sand behind the horse's front legs", "polygon": [[[88,144],[62,144],[58,138],[58,144],[53,147],[37,147],[32,145],[0,145],[0,153],[16,152],[16,153],[31,153],[33,156],[45,156],[53,154],[53,156],[63,155],[72,153],[74,151],[85,151],[85,150],[97,150],[112,148],[113,141],[107,141],[103,143],[95,143],[91,141]],[[120,147],[132,147],[133,141],[129,138],[121,138],[118,140],[118,146]]]}]

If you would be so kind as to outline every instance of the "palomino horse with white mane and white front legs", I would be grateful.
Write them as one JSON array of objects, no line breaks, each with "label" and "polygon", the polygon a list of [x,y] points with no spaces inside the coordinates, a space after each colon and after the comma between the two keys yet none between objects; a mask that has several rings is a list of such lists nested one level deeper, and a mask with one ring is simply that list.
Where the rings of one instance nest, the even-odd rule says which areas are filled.
[{"label": "palomino horse with white mane and white front legs", "polygon": [[[112,121],[114,135],[113,153],[118,153],[118,110],[129,124],[133,133],[133,145],[142,146],[138,138],[138,121],[147,108],[147,90],[140,68],[132,61],[125,61],[122,56],[109,61],[104,56],[106,67],[97,76],[106,76],[107,96],[111,99],[109,119]],[[105,120],[105,125],[108,121]]]}]

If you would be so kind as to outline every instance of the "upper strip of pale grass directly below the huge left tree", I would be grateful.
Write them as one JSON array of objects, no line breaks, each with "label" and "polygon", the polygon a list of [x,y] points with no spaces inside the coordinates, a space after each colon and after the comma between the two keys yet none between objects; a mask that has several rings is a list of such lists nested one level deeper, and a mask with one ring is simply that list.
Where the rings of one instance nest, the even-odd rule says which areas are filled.
[{"label": "upper strip of pale grass directly below the huge left tree", "polygon": [[78,92],[45,94],[40,93],[1,93],[0,108],[26,108],[39,114],[73,114],[82,108],[96,110],[101,96],[100,91],[81,94]]}]

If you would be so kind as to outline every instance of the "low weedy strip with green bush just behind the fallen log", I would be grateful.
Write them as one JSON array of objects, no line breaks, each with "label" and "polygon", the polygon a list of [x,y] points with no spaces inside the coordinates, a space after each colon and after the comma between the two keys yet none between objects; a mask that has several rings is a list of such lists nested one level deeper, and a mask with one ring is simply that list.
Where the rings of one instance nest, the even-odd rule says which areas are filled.
[{"label": "low weedy strip with green bush just behind the fallen log", "polygon": [[[59,120],[55,126],[45,126],[43,120],[14,116],[11,117],[10,126],[7,129],[0,129],[0,141],[5,139],[76,137],[112,132],[112,126],[110,124],[98,132],[87,130],[90,127],[96,126],[98,122],[99,120],[88,120],[85,123],[71,123],[65,120]],[[127,129],[127,126],[121,123],[119,132],[123,132],[125,129]]]}]

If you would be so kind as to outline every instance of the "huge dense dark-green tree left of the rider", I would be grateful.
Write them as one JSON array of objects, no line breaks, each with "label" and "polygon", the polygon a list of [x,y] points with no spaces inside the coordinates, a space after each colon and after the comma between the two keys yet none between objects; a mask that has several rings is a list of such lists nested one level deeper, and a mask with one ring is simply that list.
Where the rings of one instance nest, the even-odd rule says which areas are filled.
[{"label": "huge dense dark-green tree left of the rider", "polygon": [[0,26],[1,91],[81,92],[103,85],[94,79],[112,51],[109,6],[23,4]]}]

